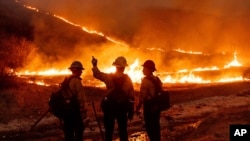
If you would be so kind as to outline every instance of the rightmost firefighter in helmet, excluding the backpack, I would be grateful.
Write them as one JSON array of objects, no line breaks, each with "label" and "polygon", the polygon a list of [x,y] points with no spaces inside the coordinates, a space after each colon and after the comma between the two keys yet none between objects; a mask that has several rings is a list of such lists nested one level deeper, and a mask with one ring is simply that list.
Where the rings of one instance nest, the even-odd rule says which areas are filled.
[{"label": "rightmost firefighter in helmet, excluding the backpack", "polygon": [[[150,79],[154,79],[156,81],[160,81],[160,79],[157,76],[153,75],[153,72],[156,71],[156,68],[155,63],[152,60],[146,60],[142,66],[142,72],[145,77],[141,82],[139,103],[136,106],[136,113],[140,113],[140,108],[143,105],[145,128],[149,139],[150,141],[160,141],[161,111],[157,106],[150,103],[150,99],[154,97],[156,89],[155,85],[152,81],[150,81]],[[161,82],[160,85],[162,86]]]}]

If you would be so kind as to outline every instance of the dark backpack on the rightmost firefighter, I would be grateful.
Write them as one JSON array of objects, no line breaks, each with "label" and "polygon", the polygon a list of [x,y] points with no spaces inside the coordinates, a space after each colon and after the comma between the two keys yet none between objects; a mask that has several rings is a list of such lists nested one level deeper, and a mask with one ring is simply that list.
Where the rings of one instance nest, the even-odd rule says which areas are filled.
[{"label": "dark backpack on the rightmost firefighter", "polygon": [[155,85],[155,95],[149,100],[149,103],[156,105],[160,111],[165,111],[170,108],[170,93],[162,89],[161,80],[158,77],[156,78],[146,77]]}]

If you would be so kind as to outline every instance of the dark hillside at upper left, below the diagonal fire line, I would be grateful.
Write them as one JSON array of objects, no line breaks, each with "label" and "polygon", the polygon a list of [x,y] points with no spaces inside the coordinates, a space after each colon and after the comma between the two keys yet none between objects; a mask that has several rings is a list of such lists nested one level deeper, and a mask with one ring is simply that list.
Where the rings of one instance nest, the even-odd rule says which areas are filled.
[{"label": "dark hillside at upper left, below the diagonal fire line", "polygon": [[14,0],[0,1],[0,36],[17,36],[35,43],[48,55],[66,55],[60,50],[107,43],[105,37],[90,34],[47,12],[27,9]]}]

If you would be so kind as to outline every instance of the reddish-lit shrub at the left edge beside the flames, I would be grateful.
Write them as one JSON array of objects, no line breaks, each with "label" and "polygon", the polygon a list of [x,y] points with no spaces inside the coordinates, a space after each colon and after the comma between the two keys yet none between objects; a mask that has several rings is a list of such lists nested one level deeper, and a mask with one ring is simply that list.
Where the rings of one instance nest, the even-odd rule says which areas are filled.
[{"label": "reddish-lit shrub at the left edge beside the flames", "polygon": [[16,36],[0,38],[0,45],[1,88],[11,86],[15,70],[23,67],[27,63],[28,56],[32,54],[36,48],[30,41]]}]

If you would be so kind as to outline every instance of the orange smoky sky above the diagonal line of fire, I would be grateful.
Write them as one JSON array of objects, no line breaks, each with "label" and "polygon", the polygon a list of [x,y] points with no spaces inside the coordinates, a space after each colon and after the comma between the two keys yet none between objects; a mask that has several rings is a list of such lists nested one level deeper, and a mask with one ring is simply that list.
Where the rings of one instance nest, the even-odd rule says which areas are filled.
[{"label": "orange smoky sky above the diagonal line of fire", "polygon": [[22,1],[131,47],[206,53],[236,51],[249,57],[248,0]]}]

